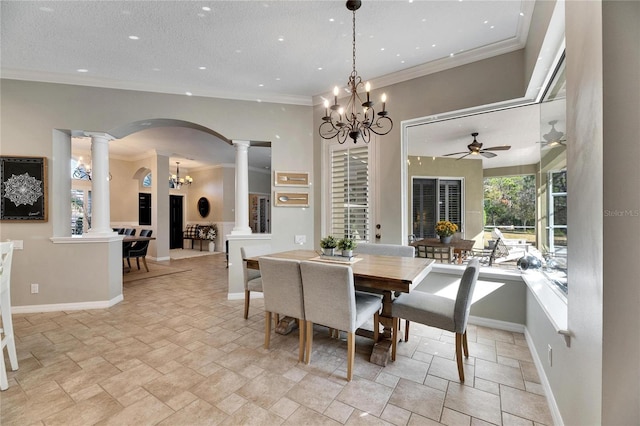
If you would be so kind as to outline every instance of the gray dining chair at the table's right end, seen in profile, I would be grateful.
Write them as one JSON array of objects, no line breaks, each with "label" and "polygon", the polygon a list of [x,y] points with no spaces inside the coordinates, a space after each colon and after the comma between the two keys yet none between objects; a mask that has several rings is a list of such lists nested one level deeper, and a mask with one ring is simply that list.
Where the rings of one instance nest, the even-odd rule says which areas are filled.
[{"label": "gray dining chair at the table's right end, seen in profile", "polygon": [[[467,346],[467,321],[471,309],[471,299],[478,280],[480,263],[478,259],[471,259],[467,265],[455,300],[435,294],[413,292],[404,293],[393,301],[391,315],[393,316],[393,338],[391,346],[391,359],[396,359],[398,344],[399,318],[420,324],[447,330],[456,335],[456,361],[458,363],[458,376],[464,382],[464,367],[462,364],[462,351],[469,358]],[[407,322],[406,336],[409,333]],[[407,337],[408,338],[408,337]]]}]

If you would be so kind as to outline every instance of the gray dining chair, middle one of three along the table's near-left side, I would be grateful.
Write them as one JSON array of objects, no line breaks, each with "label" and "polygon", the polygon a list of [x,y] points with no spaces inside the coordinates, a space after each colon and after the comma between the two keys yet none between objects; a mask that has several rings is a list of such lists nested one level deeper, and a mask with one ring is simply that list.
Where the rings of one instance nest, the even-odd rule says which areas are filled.
[{"label": "gray dining chair, middle one of three along the table's near-left side", "polygon": [[304,357],[305,316],[302,296],[300,262],[292,259],[261,257],[262,293],[264,294],[264,348],[269,349],[271,340],[271,314],[289,316],[298,320],[298,361]]}]

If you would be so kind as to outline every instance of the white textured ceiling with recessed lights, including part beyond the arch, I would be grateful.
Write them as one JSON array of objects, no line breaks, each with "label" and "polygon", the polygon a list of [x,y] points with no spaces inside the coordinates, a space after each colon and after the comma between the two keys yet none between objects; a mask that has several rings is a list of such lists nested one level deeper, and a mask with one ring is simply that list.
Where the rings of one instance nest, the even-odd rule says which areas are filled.
[{"label": "white textured ceiling with recessed lights, including part beyond the arch", "polygon": [[[375,88],[522,48],[533,5],[364,1],[357,70]],[[311,105],[344,86],[352,67],[344,1],[2,1],[0,8],[3,78]],[[135,133],[126,142],[139,143],[126,147],[113,142],[111,152],[131,157],[132,146],[175,147],[177,138],[199,147],[207,137],[166,127]],[[212,157],[228,156],[220,145]],[[174,154],[187,168],[207,164],[201,149]]]}]

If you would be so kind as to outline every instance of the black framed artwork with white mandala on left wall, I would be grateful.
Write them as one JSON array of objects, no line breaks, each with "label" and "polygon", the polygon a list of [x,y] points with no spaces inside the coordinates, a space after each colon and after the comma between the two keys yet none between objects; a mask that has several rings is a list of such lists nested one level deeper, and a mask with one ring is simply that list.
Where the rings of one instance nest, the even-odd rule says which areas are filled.
[{"label": "black framed artwork with white mandala on left wall", "polygon": [[47,159],[0,157],[0,220],[47,221]]}]

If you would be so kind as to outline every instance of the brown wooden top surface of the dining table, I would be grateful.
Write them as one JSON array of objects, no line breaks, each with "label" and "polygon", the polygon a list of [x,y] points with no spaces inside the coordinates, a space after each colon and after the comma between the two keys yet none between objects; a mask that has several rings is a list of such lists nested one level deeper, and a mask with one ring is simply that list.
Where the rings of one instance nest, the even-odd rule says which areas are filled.
[{"label": "brown wooden top surface of the dining table", "polygon": [[[319,255],[313,250],[290,250],[266,255],[280,259],[312,260]],[[358,253],[361,260],[350,264],[357,286],[408,293],[427,276],[433,259],[379,256]],[[245,259],[247,267],[260,269],[259,257]]]}]

